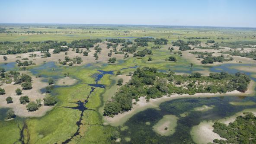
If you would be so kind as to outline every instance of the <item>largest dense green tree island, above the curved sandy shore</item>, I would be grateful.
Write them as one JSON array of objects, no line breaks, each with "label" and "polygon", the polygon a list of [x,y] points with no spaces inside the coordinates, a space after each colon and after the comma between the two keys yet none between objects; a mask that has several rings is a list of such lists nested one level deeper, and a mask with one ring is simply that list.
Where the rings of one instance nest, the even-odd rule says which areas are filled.
[{"label": "largest dense green tree island, above the curved sandy shore", "polygon": [[132,108],[132,99],[139,101],[141,96],[146,96],[149,101],[172,94],[227,93],[234,90],[245,92],[249,83],[250,78],[242,73],[210,73],[208,77],[192,73],[182,76],[173,71],[166,74],[157,72],[156,68],[138,68],[131,80],[120,87],[111,101],[106,103],[104,115],[113,117],[120,112],[129,111]]}]

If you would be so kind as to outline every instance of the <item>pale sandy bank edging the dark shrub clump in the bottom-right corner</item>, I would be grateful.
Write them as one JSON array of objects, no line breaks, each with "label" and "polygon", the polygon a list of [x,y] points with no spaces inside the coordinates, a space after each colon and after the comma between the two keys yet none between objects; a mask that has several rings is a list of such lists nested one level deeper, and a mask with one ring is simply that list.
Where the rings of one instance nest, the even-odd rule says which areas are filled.
[{"label": "pale sandy bank edging the dark shrub clump in the bottom-right corner", "polygon": [[[237,116],[244,115],[243,112],[252,112],[254,115],[256,115],[256,109],[245,109],[241,112],[237,112],[235,115],[220,119],[218,121],[228,125],[230,122],[234,122]],[[199,125],[194,126],[191,131],[193,141],[195,141],[197,144],[207,144],[209,142],[213,142],[214,139],[226,140],[225,138],[221,138],[218,134],[213,132],[213,125],[213,121],[203,121]]]}]

